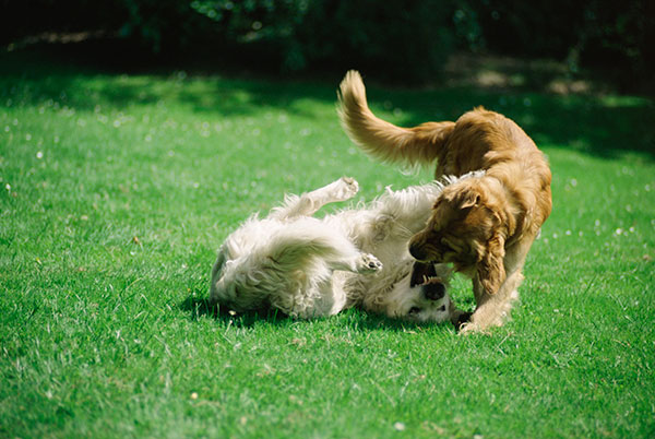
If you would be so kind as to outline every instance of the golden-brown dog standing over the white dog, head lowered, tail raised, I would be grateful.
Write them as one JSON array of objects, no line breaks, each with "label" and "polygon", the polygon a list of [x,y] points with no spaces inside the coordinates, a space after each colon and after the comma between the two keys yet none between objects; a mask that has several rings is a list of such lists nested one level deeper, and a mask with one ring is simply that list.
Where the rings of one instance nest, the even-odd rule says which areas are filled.
[{"label": "golden-brown dog standing over the white dog, head lowered, tail raised", "polygon": [[517,298],[527,252],[552,207],[544,154],[498,112],[476,108],[456,122],[400,128],[371,112],[358,72],[349,71],[340,88],[342,124],[367,153],[412,165],[436,161],[436,177],[485,170],[443,190],[409,251],[421,262],[452,262],[473,280],[477,306],[463,331],[501,325]]}]

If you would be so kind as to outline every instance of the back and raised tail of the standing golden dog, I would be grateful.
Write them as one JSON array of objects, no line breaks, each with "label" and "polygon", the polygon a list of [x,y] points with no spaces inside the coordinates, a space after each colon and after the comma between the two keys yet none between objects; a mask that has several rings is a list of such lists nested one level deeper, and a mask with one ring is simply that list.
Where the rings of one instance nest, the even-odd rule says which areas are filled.
[{"label": "back and raised tail of the standing golden dog", "polygon": [[533,140],[513,120],[483,107],[456,122],[426,122],[396,127],[368,107],[361,75],[349,71],[340,85],[340,118],[348,137],[368,154],[408,165],[437,162],[434,176],[462,176],[487,170],[527,205],[535,205],[540,225],[551,210],[550,168]]}]

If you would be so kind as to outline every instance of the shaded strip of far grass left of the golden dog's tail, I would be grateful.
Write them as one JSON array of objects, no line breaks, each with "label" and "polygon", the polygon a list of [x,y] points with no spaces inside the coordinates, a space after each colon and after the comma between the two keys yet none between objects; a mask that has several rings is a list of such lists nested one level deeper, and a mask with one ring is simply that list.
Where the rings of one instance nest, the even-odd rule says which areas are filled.
[{"label": "shaded strip of far grass left of the golden dog's tail", "polygon": [[[338,80],[335,79],[335,82]],[[335,88],[306,81],[249,80],[223,75],[189,76],[181,70],[120,74],[88,66],[61,63],[40,52],[0,54],[1,97],[14,105],[58,103],[75,110],[96,107],[124,110],[130,106],[181,106],[207,117],[254,116],[270,109],[295,114],[302,99],[335,102]],[[9,92],[9,96],[2,96]],[[4,100],[4,99],[3,99]],[[5,102],[0,102],[0,107]],[[303,111],[305,116],[312,116]]]}]

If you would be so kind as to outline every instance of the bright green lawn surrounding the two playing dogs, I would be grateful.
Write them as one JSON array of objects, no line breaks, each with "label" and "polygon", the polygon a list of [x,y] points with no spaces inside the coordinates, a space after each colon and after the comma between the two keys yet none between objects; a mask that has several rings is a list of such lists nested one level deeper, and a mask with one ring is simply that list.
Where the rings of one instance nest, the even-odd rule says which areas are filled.
[{"label": "bright green lawn surrounding the two playing dogs", "polygon": [[394,122],[485,105],[549,157],[553,213],[513,320],[458,336],[358,310],[203,311],[215,249],[284,192],[430,178],[349,143],[338,78],[0,66],[0,436],[655,435],[652,100],[371,84]]}]

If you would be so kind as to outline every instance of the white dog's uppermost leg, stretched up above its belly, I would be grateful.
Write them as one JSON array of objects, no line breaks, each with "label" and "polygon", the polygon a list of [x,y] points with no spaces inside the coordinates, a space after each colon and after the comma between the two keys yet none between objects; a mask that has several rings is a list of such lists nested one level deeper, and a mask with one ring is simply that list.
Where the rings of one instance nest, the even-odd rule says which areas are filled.
[{"label": "white dog's uppermost leg, stretched up above its belly", "polygon": [[327,203],[346,201],[359,191],[357,181],[349,177],[342,177],[320,189],[298,195],[287,195],[284,205],[273,209],[269,217],[288,220],[296,216],[313,215]]}]

